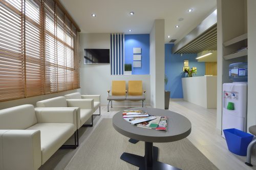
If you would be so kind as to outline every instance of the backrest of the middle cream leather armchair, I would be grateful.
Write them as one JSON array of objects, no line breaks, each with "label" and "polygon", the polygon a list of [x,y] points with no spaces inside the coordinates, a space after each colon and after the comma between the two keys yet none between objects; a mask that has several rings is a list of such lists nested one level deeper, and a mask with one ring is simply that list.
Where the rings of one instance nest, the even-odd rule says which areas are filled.
[{"label": "backrest of the middle cream leather armchair", "polygon": [[36,107],[68,107],[65,96],[36,102]]}]

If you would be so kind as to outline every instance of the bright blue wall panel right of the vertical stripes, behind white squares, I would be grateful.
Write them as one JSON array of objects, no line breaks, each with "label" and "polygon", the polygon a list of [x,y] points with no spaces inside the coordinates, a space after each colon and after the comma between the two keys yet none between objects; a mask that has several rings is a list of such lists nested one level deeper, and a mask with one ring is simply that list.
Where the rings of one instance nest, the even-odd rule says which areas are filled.
[{"label": "bright blue wall panel right of the vertical stripes, behind white squares", "polygon": [[[141,67],[133,67],[134,47],[141,47]],[[132,64],[132,75],[150,74],[150,34],[124,35],[124,63]]]}]

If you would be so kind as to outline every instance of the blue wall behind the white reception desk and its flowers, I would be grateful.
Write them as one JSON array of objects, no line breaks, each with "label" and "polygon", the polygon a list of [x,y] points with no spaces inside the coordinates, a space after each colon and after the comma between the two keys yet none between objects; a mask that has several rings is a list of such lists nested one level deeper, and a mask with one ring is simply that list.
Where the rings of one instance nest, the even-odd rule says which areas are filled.
[{"label": "blue wall behind the white reception desk and its flowers", "polygon": [[185,74],[181,74],[183,72],[184,60],[188,60],[189,68],[197,67],[197,74],[194,77],[205,75],[205,63],[197,62],[197,54],[183,54],[182,56],[180,54],[172,54],[173,46],[174,44],[165,44],[165,74],[168,77],[165,90],[170,91],[170,98],[182,99],[181,78],[186,76]]}]

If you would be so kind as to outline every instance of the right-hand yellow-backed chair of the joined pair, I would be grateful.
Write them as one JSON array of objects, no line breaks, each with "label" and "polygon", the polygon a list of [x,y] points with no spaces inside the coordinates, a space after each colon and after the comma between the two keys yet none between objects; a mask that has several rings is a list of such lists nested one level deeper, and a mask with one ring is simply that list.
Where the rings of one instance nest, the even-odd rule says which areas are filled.
[{"label": "right-hand yellow-backed chair of the joined pair", "polygon": [[[143,93],[144,92],[144,93]],[[128,101],[142,101],[142,107],[145,101],[145,92],[142,88],[142,81],[129,81],[128,82],[128,95],[126,100]]]}]

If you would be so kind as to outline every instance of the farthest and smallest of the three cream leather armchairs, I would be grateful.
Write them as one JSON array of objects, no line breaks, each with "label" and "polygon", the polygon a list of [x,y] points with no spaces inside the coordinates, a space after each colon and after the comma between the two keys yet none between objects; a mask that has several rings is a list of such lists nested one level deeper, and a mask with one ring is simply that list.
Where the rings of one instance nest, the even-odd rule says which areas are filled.
[{"label": "farthest and smallest of the three cream leather armchairs", "polygon": [[95,112],[97,109],[99,109],[99,114],[94,115],[100,115],[100,95],[81,95],[79,92],[66,94],[64,95],[66,99],[93,99],[93,112]]}]

